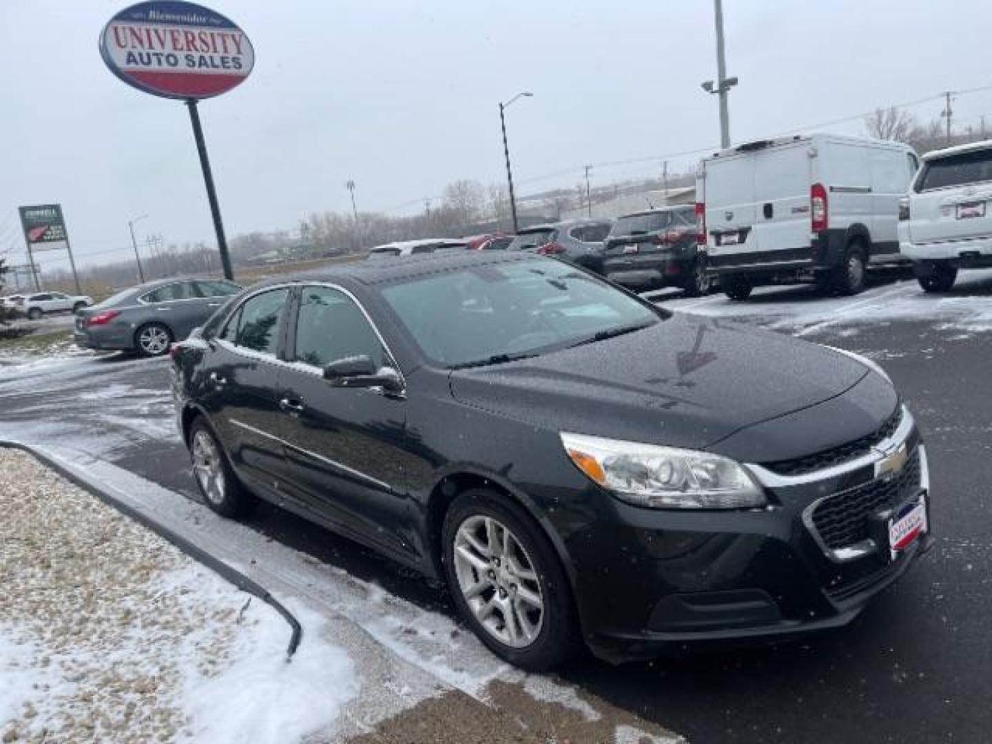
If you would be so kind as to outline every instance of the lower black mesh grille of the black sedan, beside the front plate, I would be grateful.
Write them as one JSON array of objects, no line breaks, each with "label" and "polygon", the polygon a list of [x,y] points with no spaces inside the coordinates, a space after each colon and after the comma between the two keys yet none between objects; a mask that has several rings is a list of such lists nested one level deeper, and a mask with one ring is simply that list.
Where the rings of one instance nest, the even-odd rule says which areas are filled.
[{"label": "lower black mesh grille of the black sedan, beside the front plate", "polygon": [[868,537],[868,517],[899,504],[920,487],[920,449],[891,479],[877,479],[823,499],[812,513],[812,524],[831,549],[854,545]]}]

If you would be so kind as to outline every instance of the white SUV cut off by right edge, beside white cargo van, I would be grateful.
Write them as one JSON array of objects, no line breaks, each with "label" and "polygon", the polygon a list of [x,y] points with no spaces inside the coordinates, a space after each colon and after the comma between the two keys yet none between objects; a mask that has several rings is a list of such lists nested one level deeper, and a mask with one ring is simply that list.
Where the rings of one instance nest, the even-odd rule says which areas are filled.
[{"label": "white SUV cut off by right edge, beside white cargo van", "polygon": [[935,150],[899,204],[899,241],[927,292],[992,267],[992,140]]}]

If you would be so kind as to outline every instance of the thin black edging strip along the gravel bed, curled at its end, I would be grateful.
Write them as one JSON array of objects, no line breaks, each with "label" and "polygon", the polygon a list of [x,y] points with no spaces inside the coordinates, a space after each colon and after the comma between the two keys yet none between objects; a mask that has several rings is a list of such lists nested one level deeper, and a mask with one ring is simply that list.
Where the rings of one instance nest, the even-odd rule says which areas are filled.
[{"label": "thin black edging strip along the gravel bed, curled at its end", "polygon": [[287,623],[289,623],[290,628],[293,631],[292,635],[290,636],[290,644],[286,649],[286,661],[289,662],[293,659],[293,655],[296,653],[297,649],[300,647],[300,642],[303,640],[303,634],[304,634],[303,627],[300,625],[300,621],[293,616],[293,613],[290,612],[288,609],[286,609],[286,607],[284,607],[278,599],[272,596],[272,594],[269,593],[269,590],[266,589],[264,586],[262,586],[260,583],[258,583],[254,579],[249,578],[248,576],[246,576],[244,573],[237,570],[236,568],[228,565],[223,560],[211,556],[203,549],[199,548],[196,545],[193,545],[191,542],[186,540],[186,538],[184,538],[179,533],[176,533],[170,530],[168,527],[159,524],[154,519],[150,518],[148,515],[137,511],[136,509],[128,506],[127,504],[124,504],[121,501],[118,501],[109,493],[106,493],[105,491],[98,488],[96,484],[86,480],[85,478],[80,477],[77,473],[73,472],[70,468],[66,467],[58,459],[55,459],[54,457],[45,454],[44,452],[38,451],[35,447],[31,446],[30,444],[23,444],[19,441],[9,441],[6,439],[0,439],[0,447],[6,449],[20,449],[21,451],[27,452],[33,457],[36,457],[45,465],[51,467],[53,470],[59,473],[63,478],[65,478],[65,480],[78,486],[87,493],[92,494],[103,503],[113,507],[124,516],[129,517],[133,519],[135,522],[138,522],[142,526],[148,528],[159,537],[169,541],[179,550],[185,553],[186,556],[210,568],[214,573],[217,573],[222,578],[234,584],[241,591],[246,591],[249,594],[258,597],[263,602],[268,604],[270,607],[276,610],[276,612],[278,612],[280,615],[283,616],[283,618],[286,620]]}]

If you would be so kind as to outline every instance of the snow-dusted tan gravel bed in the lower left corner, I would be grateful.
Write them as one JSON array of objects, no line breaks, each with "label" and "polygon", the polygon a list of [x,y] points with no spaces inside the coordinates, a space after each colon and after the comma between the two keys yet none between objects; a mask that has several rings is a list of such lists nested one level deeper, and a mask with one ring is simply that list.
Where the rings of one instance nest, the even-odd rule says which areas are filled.
[{"label": "snow-dusted tan gravel bed in the lower left corner", "polygon": [[25,452],[0,448],[0,508],[0,740],[191,736],[247,595]]}]

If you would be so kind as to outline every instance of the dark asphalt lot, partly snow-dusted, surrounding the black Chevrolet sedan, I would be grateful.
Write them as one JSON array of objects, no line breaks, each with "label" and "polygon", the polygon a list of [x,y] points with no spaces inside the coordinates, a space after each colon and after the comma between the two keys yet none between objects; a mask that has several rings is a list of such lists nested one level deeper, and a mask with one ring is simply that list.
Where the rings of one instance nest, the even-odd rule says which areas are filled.
[{"label": "dark asphalt lot, partly snow-dusted, surrounding the black Chevrolet sedan", "polygon": [[[988,740],[992,273],[962,275],[944,297],[925,296],[915,282],[856,298],[822,299],[805,287],[762,290],[744,304],[652,297],[865,353],[885,367],[927,438],[936,545],[843,630],[619,668],[583,659],[560,677],[692,742]],[[0,367],[0,437],[59,444],[196,499],[168,380],[165,361],[119,356]],[[295,517],[263,508],[250,526],[451,614],[436,585]]]}]

